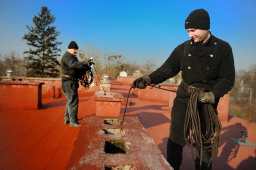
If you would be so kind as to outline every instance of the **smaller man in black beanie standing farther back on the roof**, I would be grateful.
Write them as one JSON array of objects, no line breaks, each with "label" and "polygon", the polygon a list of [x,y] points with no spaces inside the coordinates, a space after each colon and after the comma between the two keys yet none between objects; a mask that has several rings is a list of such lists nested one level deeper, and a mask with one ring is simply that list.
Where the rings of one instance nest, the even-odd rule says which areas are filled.
[{"label": "smaller man in black beanie standing farther back on the roof", "polygon": [[81,71],[85,72],[92,60],[85,62],[78,61],[76,53],[78,45],[71,41],[68,45],[68,50],[64,53],[61,59],[62,68],[62,90],[67,98],[66,111],[64,115],[64,124],[69,124],[69,127],[81,127],[78,123],[78,79]]}]

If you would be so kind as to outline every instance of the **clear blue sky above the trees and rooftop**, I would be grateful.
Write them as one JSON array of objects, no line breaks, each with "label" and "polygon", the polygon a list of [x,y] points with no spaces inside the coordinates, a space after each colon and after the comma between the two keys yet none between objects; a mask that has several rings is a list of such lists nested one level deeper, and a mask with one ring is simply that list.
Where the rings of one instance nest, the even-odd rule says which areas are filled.
[{"label": "clear blue sky above the trees and rooftop", "polygon": [[[70,41],[100,49],[101,56],[120,54],[124,61],[160,66],[176,46],[189,40],[186,17],[204,8],[210,15],[212,35],[228,42],[236,71],[256,64],[255,0],[1,0],[0,59],[12,51],[24,57],[22,40],[32,18],[47,6],[60,31],[61,56]],[[61,58],[60,56],[60,58]]]}]

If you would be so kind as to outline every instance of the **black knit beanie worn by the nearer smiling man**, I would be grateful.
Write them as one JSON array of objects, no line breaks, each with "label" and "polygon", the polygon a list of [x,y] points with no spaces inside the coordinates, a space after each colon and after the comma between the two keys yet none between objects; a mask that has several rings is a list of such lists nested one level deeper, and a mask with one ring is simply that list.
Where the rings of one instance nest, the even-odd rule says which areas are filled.
[{"label": "black knit beanie worn by the nearer smiling man", "polygon": [[210,29],[210,16],[204,9],[192,11],[185,20],[185,29],[196,28],[200,30]]}]

